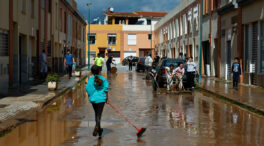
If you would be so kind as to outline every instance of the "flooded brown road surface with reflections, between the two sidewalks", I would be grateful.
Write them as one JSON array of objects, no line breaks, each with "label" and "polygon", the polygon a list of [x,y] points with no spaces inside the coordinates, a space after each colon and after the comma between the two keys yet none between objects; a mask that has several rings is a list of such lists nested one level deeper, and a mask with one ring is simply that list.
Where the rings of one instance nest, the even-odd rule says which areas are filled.
[{"label": "flooded brown road surface with reflections, between the two sidewalks", "polygon": [[94,113],[84,85],[58,98],[45,110],[0,138],[1,146],[90,145],[263,145],[264,118],[200,92],[172,95],[152,92],[144,74],[107,76],[110,101],[138,127],[131,127],[106,105],[103,138],[92,136]]}]

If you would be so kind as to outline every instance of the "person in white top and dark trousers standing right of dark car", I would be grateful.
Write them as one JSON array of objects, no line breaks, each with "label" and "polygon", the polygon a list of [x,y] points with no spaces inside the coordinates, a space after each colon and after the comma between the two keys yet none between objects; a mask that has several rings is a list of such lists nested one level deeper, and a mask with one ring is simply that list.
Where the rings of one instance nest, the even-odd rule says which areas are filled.
[{"label": "person in white top and dark trousers standing right of dark car", "polygon": [[195,62],[193,62],[193,57],[191,56],[189,57],[189,61],[187,62],[187,89],[194,88],[194,77],[196,72],[198,73],[197,65]]}]

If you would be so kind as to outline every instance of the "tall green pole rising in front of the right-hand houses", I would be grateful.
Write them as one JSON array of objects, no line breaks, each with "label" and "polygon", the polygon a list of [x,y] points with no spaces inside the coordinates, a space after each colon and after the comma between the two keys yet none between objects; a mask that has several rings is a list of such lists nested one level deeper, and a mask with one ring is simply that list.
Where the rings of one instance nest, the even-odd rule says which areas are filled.
[{"label": "tall green pole rising in front of the right-hand houses", "polygon": [[203,48],[203,0],[201,0],[200,5],[200,58],[199,58],[199,84],[202,81],[202,48]]}]

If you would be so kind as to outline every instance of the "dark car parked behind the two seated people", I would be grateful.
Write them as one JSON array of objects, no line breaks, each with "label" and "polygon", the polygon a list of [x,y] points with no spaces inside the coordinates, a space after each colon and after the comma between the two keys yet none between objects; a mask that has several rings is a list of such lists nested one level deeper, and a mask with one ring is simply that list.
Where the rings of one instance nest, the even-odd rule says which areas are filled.
[{"label": "dark car parked behind the two seated people", "polygon": [[[183,63],[183,68],[185,68],[185,61],[182,59],[163,59],[159,62],[159,65],[157,66],[157,71],[158,71],[157,82],[160,87],[165,87],[167,84],[165,67],[169,67],[171,64],[173,64],[175,69],[179,66],[179,63]],[[186,87],[187,84],[186,68],[182,81],[183,81],[183,86]]]}]

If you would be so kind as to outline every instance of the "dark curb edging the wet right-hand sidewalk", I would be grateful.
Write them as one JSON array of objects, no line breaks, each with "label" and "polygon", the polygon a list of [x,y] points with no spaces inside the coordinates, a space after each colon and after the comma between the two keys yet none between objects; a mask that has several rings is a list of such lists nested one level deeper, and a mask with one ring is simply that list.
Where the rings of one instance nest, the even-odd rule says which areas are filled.
[{"label": "dark curb edging the wet right-hand sidewalk", "polygon": [[216,98],[218,98],[218,99],[221,99],[221,100],[227,101],[227,102],[229,102],[229,103],[231,103],[231,104],[235,104],[235,105],[237,105],[237,106],[239,106],[239,107],[241,107],[241,108],[243,108],[243,109],[246,109],[246,110],[251,111],[251,112],[253,112],[253,113],[256,113],[256,114],[258,114],[258,115],[264,116],[264,111],[263,111],[263,110],[258,109],[258,108],[256,108],[256,107],[253,107],[252,105],[248,105],[247,103],[240,102],[240,101],[237,101],[237,100],[234,100],[234,99],[228,98],[228,97],[226,97],[226,96],[223,96],[223,95],[221,95],[221,94],[215,93],[215,92],[210,91],[210,90],[208,90],[208,89],[205,89],[205,88],[203,88],[203,87],[199,87],[199,86],[197,86],[196,88],[197,88],[197,90],[204,91],[204,92],[207,92],[207,93],[209,93],[209,94],[212,94],[212,95],[216,96]]}]

